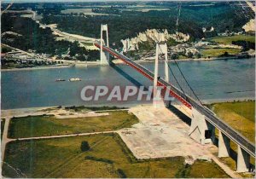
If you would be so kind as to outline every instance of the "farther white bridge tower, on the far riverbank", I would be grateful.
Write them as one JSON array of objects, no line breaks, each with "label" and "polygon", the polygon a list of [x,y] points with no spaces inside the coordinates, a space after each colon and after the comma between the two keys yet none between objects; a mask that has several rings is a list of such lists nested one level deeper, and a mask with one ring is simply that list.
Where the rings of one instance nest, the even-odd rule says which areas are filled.
[{"label": "farther white bridge tower, on the far riverbank", "polygon": [[[106,32],[106,42],[103,39],[103,32]],[[108,42],[108,25],[102,24],[101,26],[101,65],[108,65],[109,64],[109,53],[102,50],[102,45],[106,45],[109,47]]]}]

